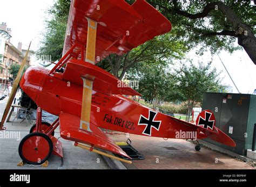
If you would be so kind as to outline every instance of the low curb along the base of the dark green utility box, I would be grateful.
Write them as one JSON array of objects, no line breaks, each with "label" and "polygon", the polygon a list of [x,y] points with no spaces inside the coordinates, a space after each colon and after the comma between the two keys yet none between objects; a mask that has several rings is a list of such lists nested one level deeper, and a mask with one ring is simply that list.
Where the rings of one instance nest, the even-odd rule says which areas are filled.
[{"label": "low curb along the base of the dark green utility box", "polygon": [[248,158],[246,156],[243,156],[243,155],[239,155],[237,153],[233,153],[232,151],[230,150],[226,150],[224,148],[221,148],[219,146],[216,146],[212,143],[209,143],[209,142],[206,142],[206,141],[203,141],[203,140],[199,140],[199,142],[201,144],[203,144],[203,146],[207,147],[207,148],[210,148],[210,149],[213,149],[213,150],[216,150],[216,151],[219,151],[220,153],[224,153],[224,154],[227,154],[227,155],[230,155],[232,157],[236,157],[244,162],[252,162],[254,160],[252,160],[251,158]]}]

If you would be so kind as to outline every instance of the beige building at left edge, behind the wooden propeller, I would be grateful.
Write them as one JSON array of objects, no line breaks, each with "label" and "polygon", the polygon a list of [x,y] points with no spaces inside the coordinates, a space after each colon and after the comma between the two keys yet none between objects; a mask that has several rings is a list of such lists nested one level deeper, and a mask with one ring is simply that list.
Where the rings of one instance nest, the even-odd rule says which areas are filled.
[{"label": "beige building at left edge, behind the wooden propeller", "polygon": [[[22,43],[19,42],[17,48],[11,44],[11,29],[6,23],[0,25],[0,90],[3,91],[9,83],[9,68],[12,64],[21,64],[24,59]],[[30,56],[30,54],[29,54]],[[26,65],[30,65],[30,57],[26,60]]]}]

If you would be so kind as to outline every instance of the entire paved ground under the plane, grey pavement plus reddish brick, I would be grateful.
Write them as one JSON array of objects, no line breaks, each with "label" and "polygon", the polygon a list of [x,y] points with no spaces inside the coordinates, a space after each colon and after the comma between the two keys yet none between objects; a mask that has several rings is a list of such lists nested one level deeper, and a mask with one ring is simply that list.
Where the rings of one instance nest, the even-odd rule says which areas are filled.
[{"label": "entire paved ground under the plane, grey pavement plus reddish brick", "polygon": [[[2,117],[5,103],[8,98],[0,101],[0,116]],[[11,117],[11,121],[13,116]],[[29,133],[31,124],[19,123],[14,125],[5,123],[8,130],[14,130],[22,139]],[[10,132],[10,131],[9,131]],[[1,132],[0,132],[1,133]],[[59,129],[55,130],[55,136],[59,137]],[[109,136],[116,142],[125,142],[125,134],[119,133]],[[17,138],[17,137],[16,137]],[[130,135],[132,146],[145,156],[145,160],[134,160],[133,164],[124,164],[128,169],[255,169],[245,162],[217,153],[207,148],[200,151],[194,149],[194,144],[185,140],[145,137]],[[0,139],[0,169],[109,169],[102,156],[90,153],[87,150],[73,146],[73,142],[59,138],[63,143],[64,161],[57,156],[51,156],[48,168],[26,165],[17,167],[21,161],[18,155],[20,140],[15,138]],[[98,162],[99,161],[99,162]]]}]

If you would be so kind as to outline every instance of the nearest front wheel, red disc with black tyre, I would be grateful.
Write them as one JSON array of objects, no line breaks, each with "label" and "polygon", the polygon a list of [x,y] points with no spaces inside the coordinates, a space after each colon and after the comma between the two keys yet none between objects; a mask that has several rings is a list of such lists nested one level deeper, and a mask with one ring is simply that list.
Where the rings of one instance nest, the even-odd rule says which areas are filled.
[{"label": "nearest front wheel, red disc with black tyre", "polygon": [[51,156],[53,144],[44,133],[30,133],[19,143],[19,156],[28,164],[42,164]]}]

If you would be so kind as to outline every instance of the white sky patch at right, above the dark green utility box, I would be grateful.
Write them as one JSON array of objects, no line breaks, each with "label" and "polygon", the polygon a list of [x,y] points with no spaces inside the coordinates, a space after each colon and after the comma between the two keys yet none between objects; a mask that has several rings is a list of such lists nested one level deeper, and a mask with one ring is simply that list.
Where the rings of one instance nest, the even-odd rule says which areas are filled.
[{"label": "white sky patch at right, above the dark green utility box", "polygon": [[220,78],[223,78],[222,84],[232,86],[233,93],[252,94],[254,89],[256,89],[256,65],[254,65],[250,57],[248,57],[245,50],[235,51],[232,54],[226,51],[221,51],[219,53],[220,59],[226,66],[227,71],[233,79],[239,92],[235,88],[230,76],[225,70],[217,54],[212,56],[210,52],[206,52],[203,56],[198,56],[194,50],[189,52],[186,57],[193,59],[193,63],[197,63],[198,61],[208,63],[212,60],[212,67],[215,67],[217,72],[222,71],[220,74]]}]

